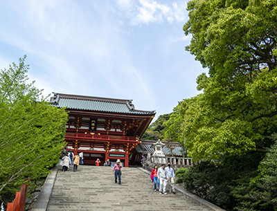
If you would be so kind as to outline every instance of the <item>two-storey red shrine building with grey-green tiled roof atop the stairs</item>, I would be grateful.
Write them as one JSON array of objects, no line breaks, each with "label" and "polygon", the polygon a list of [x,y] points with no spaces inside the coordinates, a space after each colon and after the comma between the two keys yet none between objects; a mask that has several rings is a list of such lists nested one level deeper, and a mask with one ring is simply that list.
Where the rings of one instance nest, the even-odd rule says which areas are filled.
[{"label": "two-storey red shrine building with grey-green tiled roof atop the stairs", "polygon": [[97,158],[100,165],[108,158],[111,163],[119,158],[125,167],[132,164],[132,154],[155,111],[136,110],[132,100],[53,94],[51,105],[65,107],[69,113],[68,151],[84,152],[83,161],[88,165],[94,165]]}]

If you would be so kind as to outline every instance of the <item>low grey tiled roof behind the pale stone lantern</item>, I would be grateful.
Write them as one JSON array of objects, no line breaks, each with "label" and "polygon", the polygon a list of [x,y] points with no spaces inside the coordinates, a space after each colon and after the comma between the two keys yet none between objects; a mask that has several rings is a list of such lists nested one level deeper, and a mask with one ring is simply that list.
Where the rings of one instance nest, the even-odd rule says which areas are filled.
[{"label": "low grey tiled roof behind the pale stone lantern", "polygon": [[[136,151],[141,153],[147,153],[150,152],[150,154],[154,153],[154,147],[153,144],[156,143],[156,141],[150,141],[150,140],[141,140],[141,143],[136,146]],[[172,147],[172,153],[170,150],[170,147]],[[166,143],[166,145],[163,147],[162,151],[166,156],[171,156],[174,154],[175,156],[183,156],[183,149],[179,146],[179,143]]]}]

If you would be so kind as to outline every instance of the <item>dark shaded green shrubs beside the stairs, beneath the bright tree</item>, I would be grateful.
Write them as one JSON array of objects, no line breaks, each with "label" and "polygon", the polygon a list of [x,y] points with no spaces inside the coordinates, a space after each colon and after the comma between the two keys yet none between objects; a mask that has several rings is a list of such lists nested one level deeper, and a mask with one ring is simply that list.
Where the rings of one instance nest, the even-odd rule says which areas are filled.
[{"label": "dark shaded green shrubs beside the stairs, beneath the bright tree", "polygon": [[234,190],[249,190],[251,177],[258,174],[257,168],[263,154],[222,156],[220,160],[202,160],[193,167],[176,172],[177,183],[184,183],[186,190],[219,205],[226,210],[237,210],[242,199]]}]

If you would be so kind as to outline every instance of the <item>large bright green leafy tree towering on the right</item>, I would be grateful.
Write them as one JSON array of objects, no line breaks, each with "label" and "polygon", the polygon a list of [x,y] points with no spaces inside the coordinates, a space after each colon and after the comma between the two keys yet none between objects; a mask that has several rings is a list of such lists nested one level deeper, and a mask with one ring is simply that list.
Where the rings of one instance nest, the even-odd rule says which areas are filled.
[{"label": "large bright green leafy tree towering on the right", "polygon": [[277,123],[277,0],[192,0],[188,11],[186,49],[209,69],[181,126],[190,156],[264,150]]}]

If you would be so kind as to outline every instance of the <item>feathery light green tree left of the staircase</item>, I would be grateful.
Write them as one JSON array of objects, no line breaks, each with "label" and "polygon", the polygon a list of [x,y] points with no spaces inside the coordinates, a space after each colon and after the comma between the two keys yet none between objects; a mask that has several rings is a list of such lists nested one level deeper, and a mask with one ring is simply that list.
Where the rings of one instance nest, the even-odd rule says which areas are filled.
[{"label": "feathery light green tree left of the staircase", "polygon": [[[26,56],[0,72],[0,197],[46,176],[64,146],[67,113],[27,84]],[[2,198],[3,199],[3,198]]]}]

